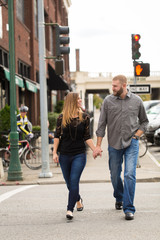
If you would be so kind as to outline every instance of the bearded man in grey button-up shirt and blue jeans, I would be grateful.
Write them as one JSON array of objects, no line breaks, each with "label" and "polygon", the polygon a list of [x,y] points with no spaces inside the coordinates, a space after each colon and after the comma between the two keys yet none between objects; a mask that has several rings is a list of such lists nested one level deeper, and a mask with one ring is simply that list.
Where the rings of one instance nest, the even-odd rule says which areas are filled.
[{"label": "bearded man in grey button-up shirt and blue jeans", "polygon": [[[112,80],[113,94],[102,104],[93,157],[101,156],[101,142],[107,125],[109,169],[116,199],[115,208],[125,213],[126,220],[134,219],[136,165],[139,137],[144,133],[148,119],[141,98],[127,89],[127,78],[118,75]],[[124,158],[124,184],[121,179]]]}]

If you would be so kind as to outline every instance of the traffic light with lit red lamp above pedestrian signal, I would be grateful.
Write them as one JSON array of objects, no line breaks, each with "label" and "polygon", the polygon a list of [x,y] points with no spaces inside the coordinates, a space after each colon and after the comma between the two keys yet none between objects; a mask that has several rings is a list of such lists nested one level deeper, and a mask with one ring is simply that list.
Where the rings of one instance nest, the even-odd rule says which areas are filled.
[{"label": "traffic light with lit red lamp above pedestrian signal", "polygon": [[139,52],[139,48],[141,45],[139,44],[139,39],[141,36],[139,34],[132,34],[132,59],[139,59],[141,54]]}]

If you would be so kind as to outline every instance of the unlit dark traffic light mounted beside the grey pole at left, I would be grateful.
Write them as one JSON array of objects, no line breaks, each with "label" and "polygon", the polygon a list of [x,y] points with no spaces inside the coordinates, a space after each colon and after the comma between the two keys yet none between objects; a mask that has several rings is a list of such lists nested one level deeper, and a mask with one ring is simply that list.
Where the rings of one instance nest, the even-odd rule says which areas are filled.
[{"label": "unlit dark traffic light mounted beside the grey pole at left", "polygon": [[56,25],[55,34],[56,34],[56,56],[59,57],[62,54],[69,54],[70,48],[68,46],[63,46],[69,44],[69,37],[63,36],[69,34],[69,27]]}]

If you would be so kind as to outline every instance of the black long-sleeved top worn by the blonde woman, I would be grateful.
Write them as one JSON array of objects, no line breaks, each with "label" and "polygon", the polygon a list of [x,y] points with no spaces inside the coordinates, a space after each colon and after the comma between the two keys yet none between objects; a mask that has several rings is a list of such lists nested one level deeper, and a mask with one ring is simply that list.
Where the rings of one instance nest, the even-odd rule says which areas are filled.
[{"label": "black long-sleeved top worn by the blonde woman", "polygon": [[58,152],[63,155],[76,155],[85,153],[85,141],[90,139],[90,117],[83,113],[83,121],[79,117],[72,118],[71,123],[62,127],[62,117],[60,114],[57,119],[57,127],[54,137],[60,138]]}]

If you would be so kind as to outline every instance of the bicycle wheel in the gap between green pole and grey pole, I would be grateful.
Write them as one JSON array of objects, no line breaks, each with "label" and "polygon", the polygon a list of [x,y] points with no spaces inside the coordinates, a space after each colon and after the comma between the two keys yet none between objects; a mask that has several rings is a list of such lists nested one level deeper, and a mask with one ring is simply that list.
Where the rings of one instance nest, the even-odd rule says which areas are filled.
[{"label": "bicycle wheel in the gap between green pole and grey pole", "polygon": [[42,167],[41,164],[41,149],[39,147],[32,147],[28,149],[24,156],[24,163],[32,170],[37,170]]}]

